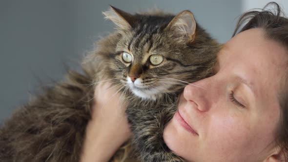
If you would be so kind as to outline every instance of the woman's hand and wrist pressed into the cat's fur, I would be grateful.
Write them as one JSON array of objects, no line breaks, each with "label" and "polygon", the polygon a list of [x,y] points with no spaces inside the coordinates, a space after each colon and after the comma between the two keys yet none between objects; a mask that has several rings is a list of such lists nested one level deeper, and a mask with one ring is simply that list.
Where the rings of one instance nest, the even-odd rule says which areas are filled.
[{"label": "woman's hand and wrist pressed into the cat's fur", "polygon": [[108,162],[132,133],[118,89],[99,84],[95,89],[92,120],[86,128],[81,162]]}]

